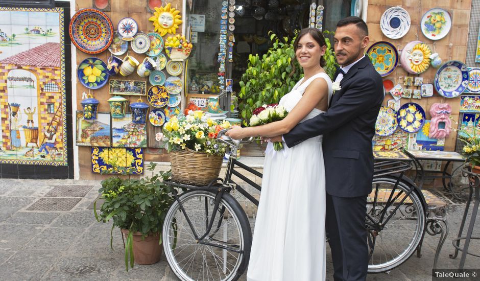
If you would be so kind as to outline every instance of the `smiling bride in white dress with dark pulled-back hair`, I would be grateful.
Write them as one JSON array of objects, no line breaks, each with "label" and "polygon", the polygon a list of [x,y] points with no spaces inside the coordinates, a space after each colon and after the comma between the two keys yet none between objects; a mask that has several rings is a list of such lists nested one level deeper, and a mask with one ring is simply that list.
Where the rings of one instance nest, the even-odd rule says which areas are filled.
[{"label": "smiling bride in white dress with dark pulled-back hair", "polygon": [[[332,81],[322,68],[326,51],[322,33],[302,29],[294,46],[294,60],[303,68],[304,77],[280,100],[289,114],[267,125],[233,127],[226,133],[228,136],[241,139],[282,135],[327,110]],[[277,152],[272,143],[267,147],[247,280],[325,280],[322,136],[292,148],[283,147]]]}]

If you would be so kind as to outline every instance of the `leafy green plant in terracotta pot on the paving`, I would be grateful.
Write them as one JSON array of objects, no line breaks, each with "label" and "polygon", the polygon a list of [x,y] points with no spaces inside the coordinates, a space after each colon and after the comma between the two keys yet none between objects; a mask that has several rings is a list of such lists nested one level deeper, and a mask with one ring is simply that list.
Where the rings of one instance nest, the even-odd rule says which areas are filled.
[{"label": "leafy green plant in terracotta pot on the paving", "polygon": [[[93,203],[93,212],[99,222],[113,219],[113,228],[118,227],[125,236],[125,268],[136,264],[153,264],[160,260],[161,232],[163,220],[175,200],[172,188],[162,179],[170,177],[169,172],[154,175],[156,164],[150,163],[148,170],[152,177],[141,179],[110,177],[102,181],[101,197]],[[103,199],[100,212],[97,202]],[[110,235],[112,247],[113,234]]]}]

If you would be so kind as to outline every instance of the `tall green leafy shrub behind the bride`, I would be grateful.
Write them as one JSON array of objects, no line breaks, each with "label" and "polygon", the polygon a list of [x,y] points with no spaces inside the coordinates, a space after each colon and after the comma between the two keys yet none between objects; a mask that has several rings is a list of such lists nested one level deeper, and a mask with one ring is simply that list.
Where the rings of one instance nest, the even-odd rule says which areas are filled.
[{"label": "tall green leafy shrub behind the bride", "polygon": [[[324,31],[325,34],[331,32]],[[250,120],[252,112],[255,108],[263,104],[278,103],[280,98],[290,92],[295,84],[303,77],[303,71],[297,61],[294,62],[296,72],[290,76],[292,72],[291,61],[295,57],[295,48],[293,39],[283,37],[280,40],[276,34],[269,32],[270,40],[273,41],[273,47],[267,54],[261,58],[255,55],[249,55],[248,68],[242,75],[240,84],[240,92],[238,109],[244,120],[244,125]],[[337,68],[337,62],[330,40],[325,38],[327,42],[327,52],[325,53],[326,65],[325,72],[333,78]]]}]

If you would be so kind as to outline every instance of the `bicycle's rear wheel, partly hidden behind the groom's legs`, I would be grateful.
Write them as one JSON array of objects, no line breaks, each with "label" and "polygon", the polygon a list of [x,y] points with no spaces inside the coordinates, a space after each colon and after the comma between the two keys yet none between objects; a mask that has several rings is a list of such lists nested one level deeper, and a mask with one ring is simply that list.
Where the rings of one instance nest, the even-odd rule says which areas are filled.
[{"label": "bicycle's rear wheel, partly hidden behind the groom's legs", "polygon": [[401,265],[423,237],[423,201],[410,182],[400,180],[398,185],[396,182],[395,177],[374,178],[373,191],[367,197],[369,273],[385,272]]}]

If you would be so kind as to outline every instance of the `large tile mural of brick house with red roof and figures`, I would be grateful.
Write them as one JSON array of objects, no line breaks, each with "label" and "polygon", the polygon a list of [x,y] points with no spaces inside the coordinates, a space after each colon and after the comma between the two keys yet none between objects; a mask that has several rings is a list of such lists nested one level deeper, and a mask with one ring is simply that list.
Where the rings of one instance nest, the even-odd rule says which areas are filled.
[{"label": "large tile mural of brick house with red roof and figures", "polygon": [[67,165],[62,8],[0,7],[0,163]]}]

